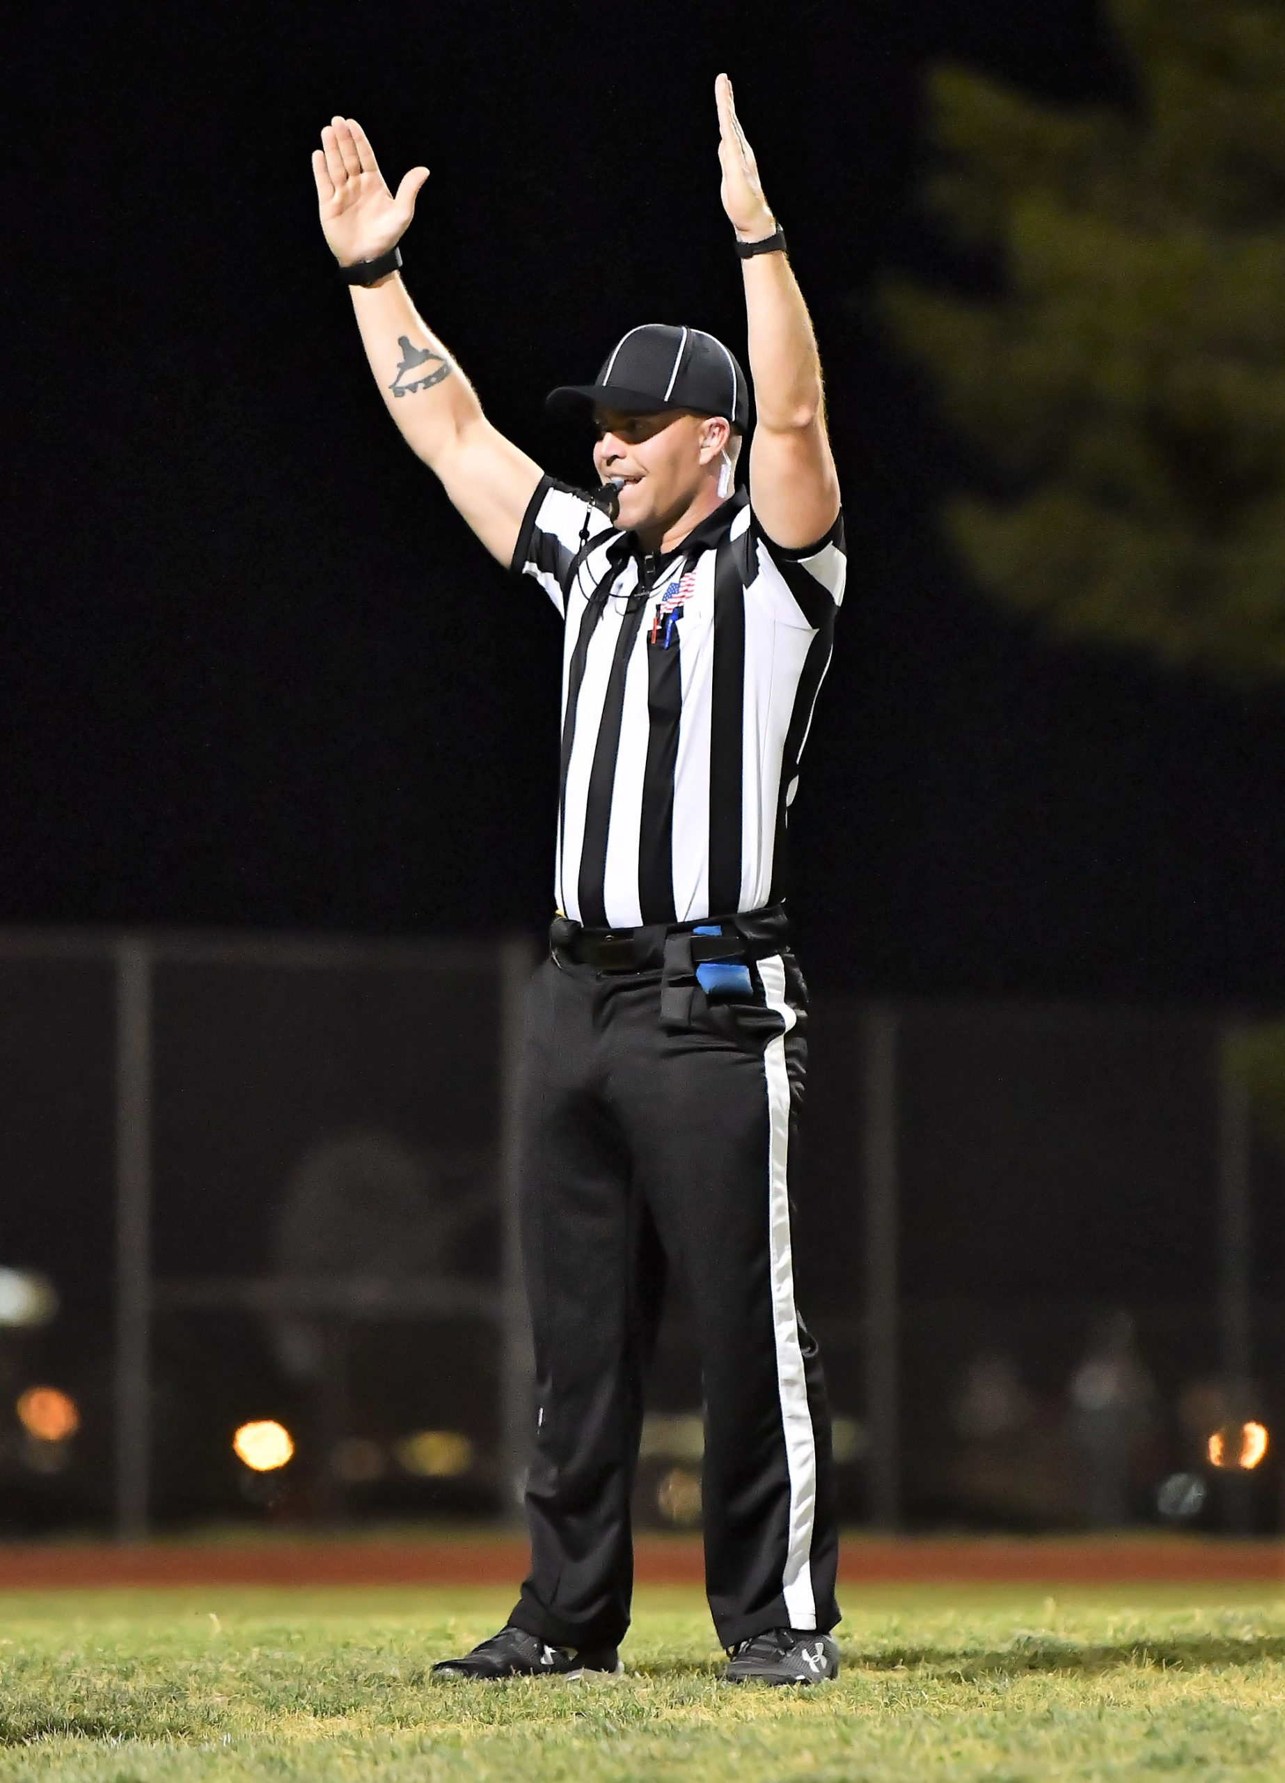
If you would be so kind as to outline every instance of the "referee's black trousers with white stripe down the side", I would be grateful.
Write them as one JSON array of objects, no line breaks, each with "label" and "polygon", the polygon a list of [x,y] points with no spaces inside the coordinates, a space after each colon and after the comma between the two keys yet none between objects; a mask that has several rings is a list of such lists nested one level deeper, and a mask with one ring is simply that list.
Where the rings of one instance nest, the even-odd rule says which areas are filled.
[{"label": "referee's black trousers with white stripe down the side", "polygon": [[629,1626],[629,1494],[667,1264],[686,1280],[704,1385],[706,1589],[724,1646],[829,1630],[836,1521],[820,1355],[797,1307],[790,1163],[804,986],[781,950],[752,1000],[561,956],[528,1004],[522,1246],[538,1428],[531,1576],[512,1621],[615,1646]]}]

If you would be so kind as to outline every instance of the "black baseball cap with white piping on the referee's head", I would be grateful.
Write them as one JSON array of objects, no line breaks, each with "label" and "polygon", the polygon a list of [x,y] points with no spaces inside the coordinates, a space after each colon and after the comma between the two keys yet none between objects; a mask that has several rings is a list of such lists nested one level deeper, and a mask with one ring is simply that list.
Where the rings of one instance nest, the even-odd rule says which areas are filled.
[{"label": "black baseball cap with white piping on the referee's head", "polygon": [[738,433],[750,423],[750,392],[736,355],[702,328],[643,323],[617,341],[595,383],[561,383],[549,408],[593,403],[624,414],[654,415],[695,408],[722,415]]}]

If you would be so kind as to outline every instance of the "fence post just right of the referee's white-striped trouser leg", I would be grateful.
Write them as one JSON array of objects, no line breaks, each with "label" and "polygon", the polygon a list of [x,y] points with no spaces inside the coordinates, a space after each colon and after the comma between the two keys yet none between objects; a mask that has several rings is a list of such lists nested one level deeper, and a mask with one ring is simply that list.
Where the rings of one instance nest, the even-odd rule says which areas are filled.
[{"label": "fence post just right of the referee's white-striped trouser leg", "polygon": [[863,1022],[866,1189],[866,1425],[870,1516],[877,1528],[900,1519],[896,1380],[896,1016],[870,1009]]}]

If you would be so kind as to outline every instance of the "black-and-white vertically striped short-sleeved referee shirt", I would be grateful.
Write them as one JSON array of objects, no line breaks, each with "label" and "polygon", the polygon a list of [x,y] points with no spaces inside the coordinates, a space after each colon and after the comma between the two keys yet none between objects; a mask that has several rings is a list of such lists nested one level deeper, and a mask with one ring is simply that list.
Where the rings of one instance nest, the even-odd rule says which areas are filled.
[{"label": "black-and-white vertically striped short-sleeved referee shirt", "polygon": [[741,489],[677,549],[643,556],[544,478],[513,569],[565,622],[558,909],[633,929],[775,902],[843,601],[843,515],[784,551]]}]

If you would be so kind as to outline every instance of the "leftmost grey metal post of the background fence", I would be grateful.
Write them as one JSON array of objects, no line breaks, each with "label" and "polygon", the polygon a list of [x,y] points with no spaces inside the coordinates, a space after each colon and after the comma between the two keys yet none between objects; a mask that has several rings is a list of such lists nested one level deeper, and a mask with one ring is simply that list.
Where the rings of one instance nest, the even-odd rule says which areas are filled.
[{"label": "leftmost grey metal post of the background fence", "polygon": [[151,954],[116,949],[116,1535],[148,1533],[151,1327]]}]

